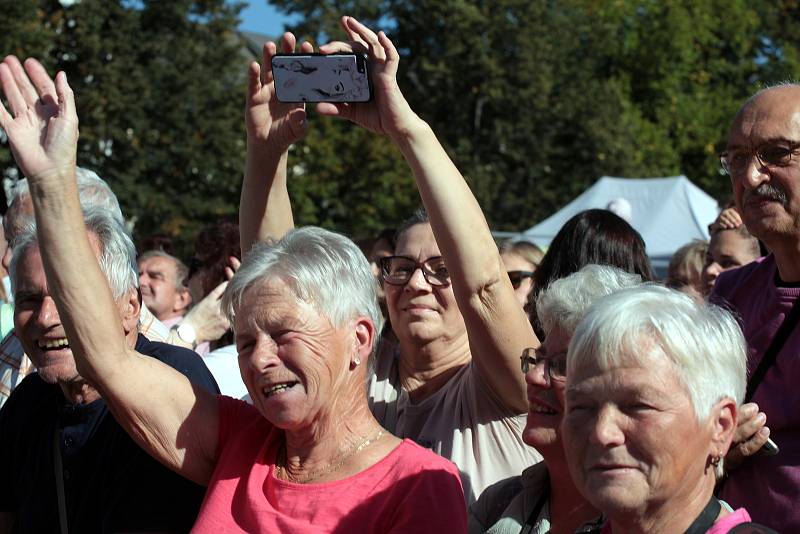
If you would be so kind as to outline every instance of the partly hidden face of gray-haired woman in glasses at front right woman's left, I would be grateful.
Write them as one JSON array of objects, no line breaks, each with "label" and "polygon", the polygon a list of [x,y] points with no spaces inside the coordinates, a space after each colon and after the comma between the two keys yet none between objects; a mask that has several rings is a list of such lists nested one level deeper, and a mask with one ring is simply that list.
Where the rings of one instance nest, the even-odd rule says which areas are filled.
[{"label": "partly hidden face of gray-haired woman in glasses at front right woman's left", "polygon": [[[560,328],[554,328],[537,349],[537,358],[565,359],[569,347],[569,336]],[[522,431],[522,440],[535,447],[545,459],[551,454],[563,455],[561,444],[561,419],[564,415],[563,379],[548,380],[543,364],[531,367],[525,374],[528,384],[528,420]]]}]

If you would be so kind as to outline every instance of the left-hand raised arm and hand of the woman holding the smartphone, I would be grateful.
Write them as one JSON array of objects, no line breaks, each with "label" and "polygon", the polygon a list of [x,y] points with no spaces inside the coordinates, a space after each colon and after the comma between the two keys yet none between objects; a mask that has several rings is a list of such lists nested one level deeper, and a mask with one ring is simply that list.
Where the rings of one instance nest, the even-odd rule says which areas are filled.
[{"label": "left-hand raised arm and hand of the woman holding the smartphone", "polygon": [[[286,33],[281,41],[284,52],[293,52],[295,37]],[[311,52],[303,43],[302,52]],[[286,160],[289,145],[305,135],[305,107],[282,104],[275,97],[272,79],[272,56],[275,43],[264,45],[264,62],[253,62],[248,70],[247,161],[242,196],[239,201],[239,232],[242,254],[255,243],[280,239],[294,227],[292,206],[286,188]]]}]

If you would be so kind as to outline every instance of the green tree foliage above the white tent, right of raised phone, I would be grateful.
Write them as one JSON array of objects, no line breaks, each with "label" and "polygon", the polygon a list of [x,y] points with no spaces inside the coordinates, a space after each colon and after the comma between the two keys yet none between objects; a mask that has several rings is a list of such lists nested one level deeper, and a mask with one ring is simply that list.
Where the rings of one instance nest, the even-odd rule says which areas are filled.
[{"label": "green tree foliage above the white tent, right of raised phone", "polygon": [[686,174],[724,199],[717,152],[747,96],[797,75],[796,2],[275,0],[314,40],[348,13],[401,50],[401,87],[493,227],[540,220],[599,176]]}]

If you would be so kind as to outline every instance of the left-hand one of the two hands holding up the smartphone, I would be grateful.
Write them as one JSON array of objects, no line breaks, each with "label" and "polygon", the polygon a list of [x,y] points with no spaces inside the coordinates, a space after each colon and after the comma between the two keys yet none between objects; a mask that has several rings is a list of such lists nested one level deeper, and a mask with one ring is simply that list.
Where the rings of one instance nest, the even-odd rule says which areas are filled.
[{"label": "left-hand one of the two hands holding up the smartphone", "polygon": [[[281,47],[285,53],[294,52],[295,44],[294,35],[283,35]],[[305,42],[300,51],[310,53],[313,48]],[[271,65],[276,53],[275,43],[268,42],[264,45],[263,65],[255,61],[250,65],[245,120],[249,141],[269,141],[273,148],[284,151],[305,135],[306,112],[303,104],[284,104],[275,97]]]}]

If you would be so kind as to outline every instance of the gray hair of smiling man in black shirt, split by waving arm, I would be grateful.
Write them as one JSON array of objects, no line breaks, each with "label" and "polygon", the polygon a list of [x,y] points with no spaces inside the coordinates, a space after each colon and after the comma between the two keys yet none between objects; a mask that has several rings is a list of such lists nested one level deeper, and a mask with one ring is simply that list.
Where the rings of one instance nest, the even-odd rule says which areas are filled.
[{"label": "gray hair of smiling man in black shirt, split by waving arm", "polygon": [[[100,270],[108,280],[114,300],[139,287],[136,248],[122,221],[106,207],[92,207],[84,211],[83,222],[86,230],[97,236],[100,244]],[[21,228],[15,239],[14,255],[9,266],[11,288],[16,292],[16,278],[19,258],[24,252],[38,246],[36,224],[31,219]]]}]

